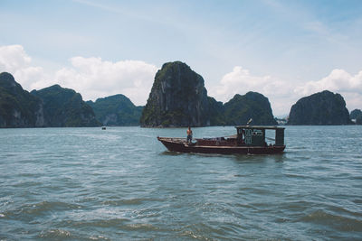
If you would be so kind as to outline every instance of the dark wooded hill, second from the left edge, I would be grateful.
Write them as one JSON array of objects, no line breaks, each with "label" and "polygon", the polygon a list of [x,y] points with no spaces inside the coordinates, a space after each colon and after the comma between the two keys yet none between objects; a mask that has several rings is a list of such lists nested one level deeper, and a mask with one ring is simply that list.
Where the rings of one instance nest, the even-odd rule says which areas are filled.
[{"label": "dark wooded hill, second from the left edge", "polygon": [[54,85],[31,94],[43,101],[44,125],[52,127],[99,126],[93,110],[70,88]]}]

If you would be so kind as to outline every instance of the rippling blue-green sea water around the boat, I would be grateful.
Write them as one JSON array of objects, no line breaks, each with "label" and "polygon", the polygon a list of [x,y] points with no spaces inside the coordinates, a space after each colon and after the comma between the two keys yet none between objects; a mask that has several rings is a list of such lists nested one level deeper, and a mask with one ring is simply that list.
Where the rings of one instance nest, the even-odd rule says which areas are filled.
[{"label": "rippling blue-green sea water around the boat", "polygon": [[362,240],[362,125],[286,126],[274,155],[157,136],[186,128],[0,129],[0,240]]}]

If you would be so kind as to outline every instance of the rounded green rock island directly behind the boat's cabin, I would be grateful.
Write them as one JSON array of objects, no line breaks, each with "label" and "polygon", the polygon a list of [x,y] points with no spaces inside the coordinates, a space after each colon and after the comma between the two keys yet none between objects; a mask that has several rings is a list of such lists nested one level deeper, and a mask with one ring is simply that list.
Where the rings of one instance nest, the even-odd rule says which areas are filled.
[{"label": "rounded green rock island directly behind the boat's cabin", "polygon": [[251,125],[278,125],[272,116],[269,99],[257,92],[235,95],[224,104],[226,125],[246,125],[250,118]]}]

